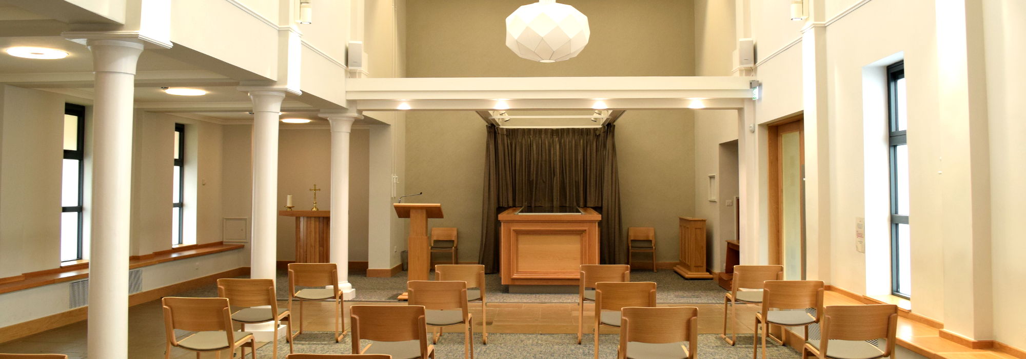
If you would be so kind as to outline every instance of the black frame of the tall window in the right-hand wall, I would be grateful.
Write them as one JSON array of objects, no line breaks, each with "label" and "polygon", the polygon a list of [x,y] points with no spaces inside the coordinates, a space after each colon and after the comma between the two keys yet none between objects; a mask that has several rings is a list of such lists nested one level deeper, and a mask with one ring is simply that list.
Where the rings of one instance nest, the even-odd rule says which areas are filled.
[{"label": "black frame of the tall window in the right-hand wall", "polygon": [[[899,225],[908,225],[908,214],[898,212],[898,146],[908,146],[907,130],[898,128],[898,80],[905,78],[905,62],[901,61],[887,66],[887,132],[889,132],[889,154],[891,171],[891,293],[906,300],[911,298],[908,293],[899,291],[901,266],[899,261],[901,252],[899,250]],[[906,165],[908,165],[906,163]]]}]

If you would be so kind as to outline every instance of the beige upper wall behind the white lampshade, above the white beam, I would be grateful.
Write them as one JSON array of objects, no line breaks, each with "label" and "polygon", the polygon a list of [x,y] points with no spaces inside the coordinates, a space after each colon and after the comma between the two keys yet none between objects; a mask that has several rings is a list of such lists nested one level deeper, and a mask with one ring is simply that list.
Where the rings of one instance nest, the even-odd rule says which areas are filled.
[{"label": "beige upper wall behind the white lampshade, above the white beam", "polygon": [[[521,0],[417,0],[407,11],[409,77],[688,76],[690,0],[560,1],[589,16],[577,57],[541,64],[506,47],[505,19]],[[372,71],[372,70],[371,70]]]}]

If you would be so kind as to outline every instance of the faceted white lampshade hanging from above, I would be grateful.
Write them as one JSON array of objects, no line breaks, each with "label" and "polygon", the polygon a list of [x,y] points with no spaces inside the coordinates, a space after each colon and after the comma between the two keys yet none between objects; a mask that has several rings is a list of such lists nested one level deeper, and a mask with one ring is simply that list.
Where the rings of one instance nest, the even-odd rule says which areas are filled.
[{"label": "faceted white lampshade hanging from above", "polygon": [[588,16],[555,0],[523,5],[506,17],[506,47],[518,56],[555,63],[577,56],[588,44]]}]

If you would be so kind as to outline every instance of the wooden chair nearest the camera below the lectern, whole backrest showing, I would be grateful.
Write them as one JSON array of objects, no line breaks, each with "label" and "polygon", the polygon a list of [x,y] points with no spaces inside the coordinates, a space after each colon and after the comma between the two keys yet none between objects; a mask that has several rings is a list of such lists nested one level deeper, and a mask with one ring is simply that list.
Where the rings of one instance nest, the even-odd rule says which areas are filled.
[{"label": "wooden chair nearest the camera below the lectern, whole backrest showing", "polygon": [[[353,306],[349,308],[354,354],[387,354],[396,358],[432,358],[423,306]],[[360,348],[360,341],[370,345]],[[415,343],[416,342],[416,343]]]}]

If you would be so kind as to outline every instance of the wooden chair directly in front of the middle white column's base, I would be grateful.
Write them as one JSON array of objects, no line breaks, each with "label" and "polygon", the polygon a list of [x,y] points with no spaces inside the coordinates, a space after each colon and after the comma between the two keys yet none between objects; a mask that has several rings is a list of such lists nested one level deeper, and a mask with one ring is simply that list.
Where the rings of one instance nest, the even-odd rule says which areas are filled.
[{"label": "wooden chair directly in front of the middle white column's base", "polygon": [[[242,278],[222,278],[218,279],[218,296],[227,297],[232,307],[244,307],[232,313],[232,321],[242,324],[242,331],[246,330],[246,324],[274,322],[274,338],[272,348],[274,357],[278,357],[278,323],[285,321],[288,333],[292,333],[292,312],[287,308],[278,308],[278,296],[274,289],[274,280],[271,279],[242,279]],[[270,308],[253,308],[253,307]],[[292,335],[286,335],[288,342],[288,352],[292,353]]]}]

